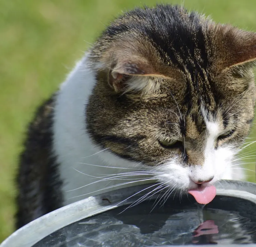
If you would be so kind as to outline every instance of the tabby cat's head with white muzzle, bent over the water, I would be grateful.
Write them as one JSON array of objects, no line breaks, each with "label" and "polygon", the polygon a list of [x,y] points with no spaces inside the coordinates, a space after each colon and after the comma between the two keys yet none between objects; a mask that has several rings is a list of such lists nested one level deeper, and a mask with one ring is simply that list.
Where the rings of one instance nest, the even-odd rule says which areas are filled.
[{"label": "tabby cat's head with white muzzle, bent over the water", "polygon": [[249,133],[255,60],[255,33],[179,6],[125,13],[90,52],[97,83],[87,130],[170,186],[211,185]]}]

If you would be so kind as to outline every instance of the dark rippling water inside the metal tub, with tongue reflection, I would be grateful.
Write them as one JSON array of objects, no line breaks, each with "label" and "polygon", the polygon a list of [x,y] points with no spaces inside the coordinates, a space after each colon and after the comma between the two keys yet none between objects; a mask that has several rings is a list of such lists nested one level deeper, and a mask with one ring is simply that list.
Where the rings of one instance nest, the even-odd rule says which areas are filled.
[{"label": "dark rippling water inside the metal tub, with tongue reflection", "polygon": [[125,211],[127,206],[80,220],[33,247],[256,243],[256,205],[249,201],[217,196],[201,206],[189,196],[181,202],[169,199],[152,210],[154,205],[147,201]]}]

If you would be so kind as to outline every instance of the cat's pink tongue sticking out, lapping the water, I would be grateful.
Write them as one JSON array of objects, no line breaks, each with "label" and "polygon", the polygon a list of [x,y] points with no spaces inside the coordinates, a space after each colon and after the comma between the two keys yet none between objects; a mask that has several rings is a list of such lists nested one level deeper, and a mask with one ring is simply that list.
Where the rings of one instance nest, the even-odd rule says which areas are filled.
[{"label": "cat's pink tongue sticking out, lapping the water", "polygon": [[195,197],[200,204],[207,204],[216,196],[216,188],[214,186],[205,187],[203,190],[189,190],[189,194]]}]

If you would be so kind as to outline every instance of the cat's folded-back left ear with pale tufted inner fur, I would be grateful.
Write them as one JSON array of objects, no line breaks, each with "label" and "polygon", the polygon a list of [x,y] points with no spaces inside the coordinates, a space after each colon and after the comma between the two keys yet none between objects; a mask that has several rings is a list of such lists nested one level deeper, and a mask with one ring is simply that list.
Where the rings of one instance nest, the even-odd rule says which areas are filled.
[{"label": "cat's folded-back left ear with pale tufted inner fur", "polygon": [[109,84],[116,92],[150,94],[159,89],[159,76],[145,59],[118,60],[109,71]]}]

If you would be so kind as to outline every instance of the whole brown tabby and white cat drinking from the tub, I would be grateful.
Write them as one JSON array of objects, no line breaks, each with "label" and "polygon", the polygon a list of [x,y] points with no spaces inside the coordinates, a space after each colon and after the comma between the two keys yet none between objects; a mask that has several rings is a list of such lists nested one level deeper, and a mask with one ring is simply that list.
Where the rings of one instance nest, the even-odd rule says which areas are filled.
[{"label": "whole brown tabby and white cat drinking from the tub", "polygon": [[231,166],[254,118],[255,60],[255,33],[178,5],[116,18],[29,125],[16,228],[125,186],[158,181],[206,204],[218,180],[244,179]]}]

